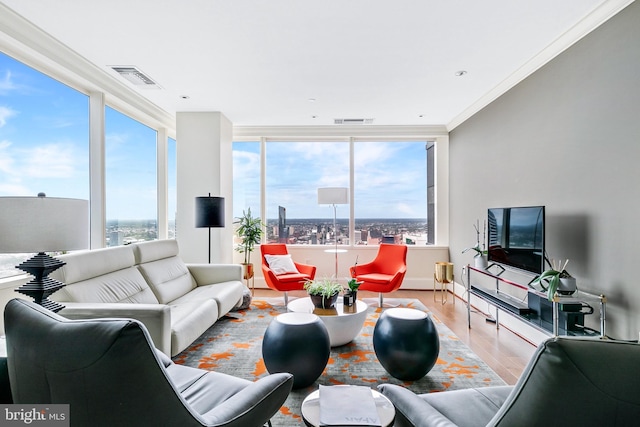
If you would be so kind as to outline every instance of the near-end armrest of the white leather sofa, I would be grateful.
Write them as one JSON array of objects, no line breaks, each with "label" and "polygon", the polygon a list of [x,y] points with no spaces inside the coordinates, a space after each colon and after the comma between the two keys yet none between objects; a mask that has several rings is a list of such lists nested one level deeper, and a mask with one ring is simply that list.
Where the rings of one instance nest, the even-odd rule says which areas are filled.
[{"label": "near-end armrest of the white leather sofa", "polygon": [[64,302],[67,319],[135,319],[147,328],[153,345],[171,356],[171,309],[164,304]]}]

